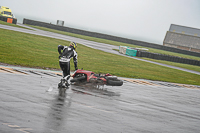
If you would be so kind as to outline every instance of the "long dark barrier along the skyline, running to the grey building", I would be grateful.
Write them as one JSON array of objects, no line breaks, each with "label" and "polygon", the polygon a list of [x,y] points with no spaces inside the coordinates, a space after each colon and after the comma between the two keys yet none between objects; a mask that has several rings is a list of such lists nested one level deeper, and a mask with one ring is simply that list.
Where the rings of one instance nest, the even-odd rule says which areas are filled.
[{"label": "long dark barrier along the skyline, running to the grey building", "polygon": [[127,38],[122,38],[122,37],[116,37],[116,36],[102,34],[102,33],[84,31],[84,30],[49,24],[49,23],[45,23],[45,22],[34,21],[34,20],[30,20],[30,19],[25,19],[25,18],[23,20],[23,24],[42,26],[42,27],[47,27],[47,28],[51,28],[51,29],[71,32],[71,33],[75,33],[75,34],[81,34],[81,35],[85,35],[85,36],[103,38],[103,39],[108,39],[108,40],[113,40],[113,41],[118,41],[118,42],[123,42],[123,43],[129,43],[129,44],[134,44],[134,45],[143,46],[143,47],[161,49],[161,50],[166,50],[166,51],[200,57],[200,53],[196,53],[196,52],[191,52],[191,51],[187,51],[187,50],[182,50],[182,49],[172,48],[172,47],[163,46],[163,45],[159,45],[159,44],[153,44],[153,43],[148,43],[148,42],[127,39]]}]

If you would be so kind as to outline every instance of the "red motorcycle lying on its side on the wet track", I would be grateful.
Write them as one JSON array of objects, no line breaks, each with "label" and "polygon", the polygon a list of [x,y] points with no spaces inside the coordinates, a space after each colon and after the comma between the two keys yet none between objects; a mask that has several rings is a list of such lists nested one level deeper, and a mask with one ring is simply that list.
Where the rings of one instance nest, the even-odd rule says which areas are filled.
[{"label": "red motorcycle lying on its side on the wet track", "polygon": [[108,85],[108,86],[122,86],[123,81],[118,79],[117,76],[107,74],[95,74],[92,71],[78,69],[72,75],[73,79],[71,83],[84,84],[92,83],[96,85]]}]

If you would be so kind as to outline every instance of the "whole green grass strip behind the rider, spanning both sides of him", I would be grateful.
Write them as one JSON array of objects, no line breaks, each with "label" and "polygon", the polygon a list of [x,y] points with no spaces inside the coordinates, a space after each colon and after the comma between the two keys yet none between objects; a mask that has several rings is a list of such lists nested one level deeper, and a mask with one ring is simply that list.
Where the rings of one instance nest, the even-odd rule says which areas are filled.
[{"label": "whole green grass strip behind the rider, spanning both sides of him", "polygon": [[[69,42],[0,29],[0,62],[28,67],[59,69],[57,46]],[[200,75],[102,52],[78,44],[78,67],[95,73],[200,85]],[[73,62],[71,62],[71,70]]]}]

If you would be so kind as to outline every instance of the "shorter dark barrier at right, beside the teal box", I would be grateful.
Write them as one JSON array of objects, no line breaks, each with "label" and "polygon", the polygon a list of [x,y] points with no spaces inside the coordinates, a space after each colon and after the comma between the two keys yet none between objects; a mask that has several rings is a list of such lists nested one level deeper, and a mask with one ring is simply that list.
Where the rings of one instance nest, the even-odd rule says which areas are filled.
[{"label": "shorter dark barrier at right, beside the teal box", "polygon": [[164,54],[158,54],[158,53],[151,53],[151,52],[141,51],[141,50],[137,51],[137,56],[138,57],[146,57],[146,58],[152,58],[152,59],[157,59],[157,60],[166,60],[166,61],[171,61],[171,62],[200,66],[199,60],[192,60],[192,59],[181,58],[181,57],[177,57],[177,56],[164,55]]}]

